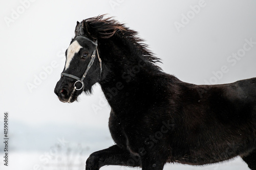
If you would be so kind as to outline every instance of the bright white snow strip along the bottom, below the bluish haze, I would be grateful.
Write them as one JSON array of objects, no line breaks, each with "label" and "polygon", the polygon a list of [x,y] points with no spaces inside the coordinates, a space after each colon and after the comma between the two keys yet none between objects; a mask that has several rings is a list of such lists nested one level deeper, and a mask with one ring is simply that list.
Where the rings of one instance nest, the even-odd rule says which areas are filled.
[{"label": "bright white snow strip along the bottom, below the bluish haze", "polygon": [[[10,153],[9,166],[4,166],[2,163],[0,169],[3,170],[78,170],[84,169],[84,162],[89,154],[73,154],[71,151],[65,151],[59,155],[54,155],[51,159],[46,159],[42,156],[46,153]],[[132,170],[141,168],[130,168],[123,166],[104,166],[101,170]],[[236,158],[232,161],[222,162],[219,164],[207,166],[191,166],[183,164],[166,164],[164,169],[172,170],[247,170],[247,165],[241,160]]]}]

